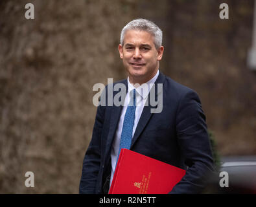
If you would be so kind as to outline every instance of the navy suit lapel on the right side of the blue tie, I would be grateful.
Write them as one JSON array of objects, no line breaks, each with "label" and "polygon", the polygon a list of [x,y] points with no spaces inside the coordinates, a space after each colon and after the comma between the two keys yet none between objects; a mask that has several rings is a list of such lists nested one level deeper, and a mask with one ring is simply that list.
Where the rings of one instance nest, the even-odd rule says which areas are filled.
[{"label": "navy suit lapel on the right side of the blue tie", "polygon": [[148,98],[147,98],[148,102],[146,102],[146,103],[148,103],[148,105],[145,105],[145,107],[143,108],[141,118],[139,119],[139,122],[137,124],[136,129],[135,129],[134,137],[132,138],[132,145],[131,145],[130,149],[132,149],[132,147],[134,146],[134,143],[136,142],[137,138],[139,138],[139,135],[141,135],[143,129],[145,129],[146,125],[148,124],[148,121],[150,120],[150,118],[153,114],[151,109],[154,110],[154,108],[157,108],[157,105],[152,106],[150,104],[150,101],[149,101],[150,100],[150,94],[154,95],[155,100],[157,100],[157,95],[160,94],[160,93],[163,93],[162,90],[157,90],[157,83],[164,83],[164,81],[165,81],[165,76],[161,72],[159,72],[159,76],[157,77],[155,85],[153,85],[153,87],[155,87],[155,93],[154,94],[152,94],[152,93],[148,94]]}]

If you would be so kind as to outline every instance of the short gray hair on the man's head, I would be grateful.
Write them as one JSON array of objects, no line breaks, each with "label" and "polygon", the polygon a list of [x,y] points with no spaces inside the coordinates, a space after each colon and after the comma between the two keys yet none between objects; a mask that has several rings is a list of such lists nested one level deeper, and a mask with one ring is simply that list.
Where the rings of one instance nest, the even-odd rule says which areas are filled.
[{"label": "short gray hair on the man's head", "polygon": [[128,30],[140,30],[148,32],[155,38],[156,49],[159,49],[159,47],[162,45],[163,32],[155,23],[149,21],[148,19],[134,19],[133,21],[130,21],[130,23],[128,23],[124,28],[122,28],[120,38],[120,43],[122,46],[124,45],[124,34]]}]

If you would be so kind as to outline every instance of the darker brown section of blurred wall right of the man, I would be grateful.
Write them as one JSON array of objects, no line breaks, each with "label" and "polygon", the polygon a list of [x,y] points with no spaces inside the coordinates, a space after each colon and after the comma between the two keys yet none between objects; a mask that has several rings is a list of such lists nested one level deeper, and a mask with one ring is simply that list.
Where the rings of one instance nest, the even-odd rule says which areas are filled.
[{"label": "darker brown section of blurred wall right of the man", "polygon": [[[219,17],[220,4],[229,19]],[[144,17],[164,31],[161,71],[200,96],[220,155],[256,154],[256,71],[246,65],[253,0],[149,0]],[[146,8],[143,10],[143,8]]]}]

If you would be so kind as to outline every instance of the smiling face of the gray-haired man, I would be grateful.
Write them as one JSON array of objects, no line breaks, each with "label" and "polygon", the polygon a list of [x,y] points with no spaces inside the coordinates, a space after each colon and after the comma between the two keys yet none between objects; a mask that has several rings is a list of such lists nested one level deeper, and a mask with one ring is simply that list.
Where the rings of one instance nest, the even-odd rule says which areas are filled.
[{"label": "smiling face of the gray-haired man", "polygon": [[128,30],[124,35],[124,45],[119,45],[119,53],[130,82],[142,84],[156,74],[163,46],[156,49],[154,36],[148,32]]}]

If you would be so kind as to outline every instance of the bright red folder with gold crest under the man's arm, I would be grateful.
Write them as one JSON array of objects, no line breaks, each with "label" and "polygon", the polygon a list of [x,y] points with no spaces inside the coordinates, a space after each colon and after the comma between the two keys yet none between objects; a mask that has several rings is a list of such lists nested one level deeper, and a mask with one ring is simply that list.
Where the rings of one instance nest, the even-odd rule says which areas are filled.
[{"label": "bright red folder with gold crest under the man's arm", "polygon": [[121,149],[109,194],[166,194],[180,182],[185,170]]}]

